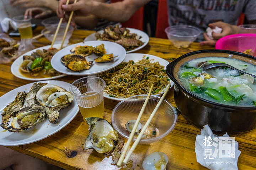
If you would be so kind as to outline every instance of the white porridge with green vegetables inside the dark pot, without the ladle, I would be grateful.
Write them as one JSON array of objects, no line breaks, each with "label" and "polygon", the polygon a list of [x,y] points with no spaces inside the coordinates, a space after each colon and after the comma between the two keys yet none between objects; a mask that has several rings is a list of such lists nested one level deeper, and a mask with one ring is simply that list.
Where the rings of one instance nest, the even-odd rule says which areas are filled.
[{"label": "white porridge with green vegetables inside the dark pot, without the ladle", "polygon": [[[229,67],[217,67],[203,70],[198,64],[228,63],[246,73],[256,75],[256,66],[234,58],[202,57],[184,63],[178,78],[185,89],[198,97],[231,106],[256,106],[256,85],[254,78],[241,74]],[[200,64],[199,64],[200,65]],[[205,66],[204,65],[204,66]]]}]

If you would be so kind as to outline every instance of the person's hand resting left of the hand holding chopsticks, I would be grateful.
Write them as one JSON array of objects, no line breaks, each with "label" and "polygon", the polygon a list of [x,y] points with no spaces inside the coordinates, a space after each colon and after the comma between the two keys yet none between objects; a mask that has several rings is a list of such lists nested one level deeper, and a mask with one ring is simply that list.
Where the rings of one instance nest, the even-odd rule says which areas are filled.
[{"label": "person's hand resting left of the hand holding chopsticks", "polygon": [[36,19],[43,19],[53,15],[53,11],[47,8],[28,8],[25,12],[25,16],[31,16]]}]

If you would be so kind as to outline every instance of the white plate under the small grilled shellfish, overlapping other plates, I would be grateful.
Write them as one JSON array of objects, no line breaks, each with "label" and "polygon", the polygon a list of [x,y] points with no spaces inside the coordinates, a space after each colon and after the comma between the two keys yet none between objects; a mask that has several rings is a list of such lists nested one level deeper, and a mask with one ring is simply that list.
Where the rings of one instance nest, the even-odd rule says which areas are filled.
[{"label": "white plate under the small grilled shellfish, overlapping other plates", "polygon": [[[96,56],[95,54],[91,54],[91,55],[85,57],[87,62],[94,61],[91,65],[90,69],[82,70],[80,72],[75,72],[75,71],[72,71],[72,70],[66,68],[64,63],[62,63],[60,61],[60,59],[64,55],[70,54],[71,53],[70,50],[73,49],[74,47],[76,47],[77,45],[81,45],[81,46],[91,45],[91,46],[96,47],[97,45],[101,45],[101,44],[104,44],[107,54],[113,53],[114,56],[118,56],[118,57],[115,57],[110,62],[99,63],[99,62],[94,61],[95,58],[97,58],[98,56]],[[125,51],[124,47],[122,47],[121,45],[119,45],[117,43],[110,42],[110,41],[86,41],[86,42],[80,42],[78,44],[70,45],[70,46],[65,47],[64,49],[58,51],[52,57],[51,64],[55,70],[57,70],[58,72],[63,73],[63,74],[92,75],[92,74],[102,73],[107,70],[110,70],[111,68],[116,67],[117,65],[122,63],[125,56],[126,56],[126,51]]]}]

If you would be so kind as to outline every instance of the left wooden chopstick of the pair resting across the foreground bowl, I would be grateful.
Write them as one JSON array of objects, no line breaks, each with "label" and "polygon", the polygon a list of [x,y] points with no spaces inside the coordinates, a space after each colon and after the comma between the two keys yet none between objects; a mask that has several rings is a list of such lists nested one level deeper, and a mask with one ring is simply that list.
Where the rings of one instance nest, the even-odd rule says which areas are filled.
[{"label": "left wooden chopstick of the pair resting across the foreground bowl", "polygon": [[150,98],[150,96],[151,96],[151,92],[152,92],[152,90],[153,90],[153,87],[154,87],[154,84],[152,84],[151,87],[150,87],[150,90],[149,90],[149,92],[148,92],[148,96],[146,97],[146,100],[145,100],[145,102],[144,102],[144,104],[143,104],[143,106],[142,106],[142,109],[140,110],[140,113],[139,113],[139,115],[138,115],[138,118],[137,118],[137,120],[136,120],[134,126],[133,126],[132,132],[130,133],[130,136],[129,136],[129,138],[128,138],[128,141],[127,141],[127,143],[126,143],[126,146],[124,147],[124,150],[123,150],[123,152],[122,152],[122,154],[121,154],[121,156],[120,156],[120,158],[119,158],[119,160],[118,160],[118,162],[117,162],[117,166],[121,166],[121,164],[122,164],[122,162],[123,162],[123,159],[124,159],[124,157],[125,157],[125,154],[126,154],[126,152],[127,152],[127,149],[128,149],[128,147],[130,146],[130,143],[132,142],[132,139],[133,139],[133,136],[134,136],[134,134],[135,134],[135,131],[137,130],[137,126],[138,126],[138,124],[139,124],[140,118],[142,117],[142,114],[143,114],[143,112],[144,112],[144,110],[145,110],[145,108],[146,108],[146,104],[148,104],[148,101],[149,101],[149,98]]}]

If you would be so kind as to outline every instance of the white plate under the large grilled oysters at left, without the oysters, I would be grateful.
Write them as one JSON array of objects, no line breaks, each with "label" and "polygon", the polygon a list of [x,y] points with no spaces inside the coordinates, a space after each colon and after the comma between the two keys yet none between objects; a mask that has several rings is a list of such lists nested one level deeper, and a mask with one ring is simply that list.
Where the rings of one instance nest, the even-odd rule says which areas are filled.
[{"label": "white plate under the large grilled oysters at left, without the oysters", "polygon": [[[58,80],[47,80],[47,81],[39,81],[41,83],[48,83],[48,84],[54,84],[60,87],[63,87],[66,90],[69,90],[69,83],[66,83],[64,81],[58,81]],[[38,83],[38,82],[36,82]],[[0,112],[3,113],[3,109],[5,106],[14,101],[16,95],[20,91],[26,91],[28,92],[30,90],[30,87],[32,87],[34,83],[26,84],[24,86],[18,87],[5,95],[0,97]],[[52,124],[49,122],[49,119],[46,118],[44,121],[32,126],[31,128],[22,131],[22,132],[9,132],[5,129],[3,129],[0,126],[0,145],[2,146],[18,146],[18,145],[25,145],[28,143],[33,143],[39,140],[42,140],[44,138],[47,138],[50,135],[55,134],[62,128],[64,128],[66,125],[70,123],[71,120],[73,120],[78,113],[79,108],[78,104],[75,101],[75,98],[72,102],[72,104],[68,107],[65,107],[59,111],[59,120],[56,124]],[[0,123],[2,123],[2,119],[0,120]]]}]

